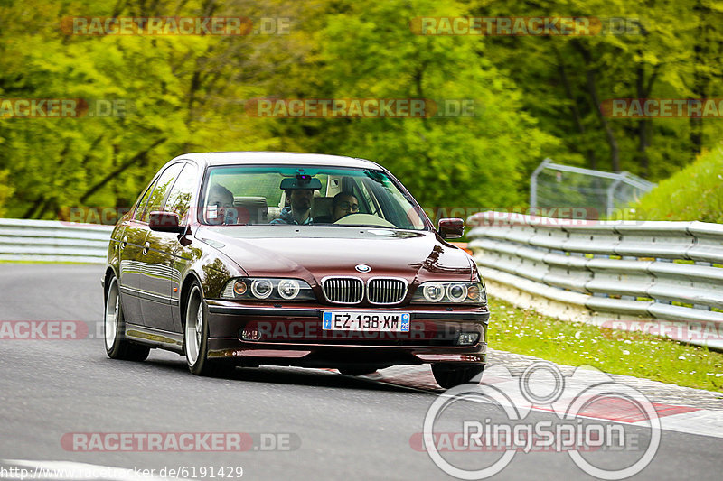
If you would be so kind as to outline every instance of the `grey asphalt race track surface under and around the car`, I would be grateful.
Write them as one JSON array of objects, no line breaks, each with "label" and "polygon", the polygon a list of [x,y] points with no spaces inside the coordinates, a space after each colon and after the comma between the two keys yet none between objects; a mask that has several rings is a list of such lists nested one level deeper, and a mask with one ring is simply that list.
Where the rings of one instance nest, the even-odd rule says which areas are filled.
[{"label": "grey asphalt race track surface under and around the car", "polygon": [[[108,359],[97,337],[101,273],[101,266],[90,265],[0,264],[0,321],[75,320],[89,326],[87,337],[67,340],[11,339],[0,330],[0,478],[19,479],[21,467],[84,463],[155,469],[156,477],[186,467],[176,475],[198,479],[219,479],[220,469],[226,479],[239,478],[240,469],[243,479],[453,479],[414,441],[437,393],[299,368],[262,366],[237,369],[225,379],[202,378],[189,374],[182,356],[158,350],[143,363]],[[436,431],[459,432],[463,421],[501,417],[489,403],[455,402],[440,415]],[[548,412],[531,412],[524,421],[559,425]],[[627,449],[593,449],[583,456],[608,470],[632,465],[651,430],[628,425],[624,432],[634,441]],[[198,434],[195,448],[183,452],[167,450],[173,444],[166,450],[113,450],[118,445],[108,433],[135,439],[160,433],[164,442],[180,439],[179,433],[241,433],[243,450],[207,449]],[[94,445],[93,439],[105,444]],[[238,446],[223,439],[222,447]],[[720,438],[662,431],[659,449],[637,477],[718,478],[722,448]],[[482,469],[502,452],[442,455],[456,467]],[[92,478],[127,479],[133,471],[98,473]],[[593,476],[568,452],[532,449],[517,452],[494,478]]]}]

